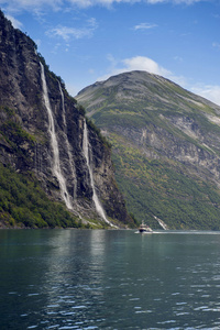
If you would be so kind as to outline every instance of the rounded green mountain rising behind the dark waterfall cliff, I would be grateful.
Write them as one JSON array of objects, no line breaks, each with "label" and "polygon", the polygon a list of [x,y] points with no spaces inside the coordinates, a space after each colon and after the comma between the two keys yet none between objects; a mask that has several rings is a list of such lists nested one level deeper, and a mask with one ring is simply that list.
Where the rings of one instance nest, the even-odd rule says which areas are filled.
[{"label": "rounded green mountain rising behind the dark waterfall cliff", "polygon": [[96,82],[76,99],[112,144],[118,185],[139,221],[220,229],[219,106],[146,72]]}]

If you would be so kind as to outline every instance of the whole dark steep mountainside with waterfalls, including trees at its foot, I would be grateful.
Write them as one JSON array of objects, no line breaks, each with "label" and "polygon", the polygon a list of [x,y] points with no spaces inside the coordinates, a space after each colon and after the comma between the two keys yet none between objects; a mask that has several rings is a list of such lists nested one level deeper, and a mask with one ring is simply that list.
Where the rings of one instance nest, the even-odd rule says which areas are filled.
[{"label": "whole dark steep mountainside with waterfalls, including trees at its foot", "polygon": [[132,224],[99,130],[0,12],[0,224]]}]

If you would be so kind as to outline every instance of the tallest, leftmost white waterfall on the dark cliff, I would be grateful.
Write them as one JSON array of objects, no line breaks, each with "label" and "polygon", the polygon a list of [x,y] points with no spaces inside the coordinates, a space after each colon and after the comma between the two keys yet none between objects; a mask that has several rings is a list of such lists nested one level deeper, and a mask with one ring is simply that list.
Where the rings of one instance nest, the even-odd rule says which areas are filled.
[{"label": "tallest, leftmost white waterfall on the dark cliff", "polygon": [[51,143],[52,143],[52,148],[53,148],[53,154],[54,154],[53,173],[58,180],[63,200],[65,201],[67,208],[72,209],[72,202],[70,202],[69,194],[67,191],[66,180],[61,170],[58,142],[56,139],[54,118],[53,118],[53,112],[52,112],[52,108],[51,108],[51,103],[50,103],[50,99],[48,99],[48,91],[47,91],[47,85],[46,85],[46,79],[45,79],[45,74],[44,74],[44,66],[42,63],[40,63],[40,64],[41,64],[41,78],[42,78],[42,85],[43,85],[43,97],[44,97],[45,107],[46,107],[46,110],[48,113],[48,131],[51,134]]}]

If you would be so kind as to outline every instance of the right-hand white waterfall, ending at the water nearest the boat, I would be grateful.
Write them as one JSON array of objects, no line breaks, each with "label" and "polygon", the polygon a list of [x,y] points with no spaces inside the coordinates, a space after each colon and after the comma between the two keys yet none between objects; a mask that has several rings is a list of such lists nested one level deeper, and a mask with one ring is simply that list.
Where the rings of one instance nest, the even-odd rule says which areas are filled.
[{"label": "right-hand white waterfall, ending at the water nearest the boat", "polygon": [[92,200],[94,204],[96,206],[96,210],[99,213],[99,216],[111,227],[114,227],[111,222],[109,222],[109,220],[107,219],[103,208],[99,201],[99,198],[97,196],[96,193],[96,188],[95,188],[95,183],[94,183],[94,173],[90,166],[90,161],[89,161],[89,141],[88,141],[88,130],[87,130],[87,124],[86,124],[86,120],[84,121],[84,142],[82,142],[82,151],[84,151],[84,155],[87,162],[87,166],[88,166],[88,170],[89,170],[89,176],[90,176],[90,184],[91,184],[91,188],[92,188]]}]

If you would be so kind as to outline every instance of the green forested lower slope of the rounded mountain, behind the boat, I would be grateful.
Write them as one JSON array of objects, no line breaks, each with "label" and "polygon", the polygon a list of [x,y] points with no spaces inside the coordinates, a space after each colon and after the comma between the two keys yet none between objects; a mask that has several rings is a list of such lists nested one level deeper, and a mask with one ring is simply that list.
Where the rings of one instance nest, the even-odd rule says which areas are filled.
[{"label": "green forested lower slope of the rounded mountain, behind the boat", "polygon": [[142,152],[111,135],[116,176],[128,210],[158,228],[220,230],[220,191],[174,162],[147,160]]}]

